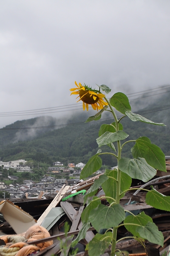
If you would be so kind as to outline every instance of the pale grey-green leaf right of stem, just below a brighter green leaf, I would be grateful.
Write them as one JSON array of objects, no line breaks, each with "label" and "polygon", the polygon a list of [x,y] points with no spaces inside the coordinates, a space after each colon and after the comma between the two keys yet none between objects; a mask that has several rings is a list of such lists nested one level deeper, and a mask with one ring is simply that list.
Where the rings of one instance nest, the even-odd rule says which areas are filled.
[{"label": "pale grey-green leaf right of stem, just below a brighter green leaf", "polygon": [[119,170],[128,174],[133,179],[140,179],[148,182],[156,175],[156,169],[148,165],[144,158],[138,159],[121,158],[119,161]]}]

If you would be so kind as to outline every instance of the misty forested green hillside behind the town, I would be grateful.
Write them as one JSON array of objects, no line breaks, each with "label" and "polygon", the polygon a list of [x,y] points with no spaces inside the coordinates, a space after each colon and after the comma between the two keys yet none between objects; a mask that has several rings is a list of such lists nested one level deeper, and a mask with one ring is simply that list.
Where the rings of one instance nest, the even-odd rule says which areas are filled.
[{"label": "misty forested green hillside behind the town", "polygon": [[[137,111],[143,113],[142,116],[153,120],[154,122],[164,122],[167,127],[156,125],[148,125],[142,122],[132,122],[128,117],[122,119],[124,131],[130,134],[128,139],[137,139],[140,136],[147,136],[151,142],[159,145],[164,154],[170,155],[170,114],[169,109],[162,110],[169,104],[170,94],[160,97],[153,104]],[[133,110],[135,112],[135,110]],[[150,113],[147,113],[150,112]],[[93,112],[94,114],[94,112]],[[113,120],[96,121],[92,123],[84,123],[89,113],[82,111],[81,114],[75,114],[67,120],[65,127],[55,129],[33,129],[15,130],[14,128],[38,127],[50,125],[54,126],[59,122],[52,117],[41,117],[17,121],[14,124],[6,126],[11,130],[0,130],[0,157],[3,161],[14,159],[34,160],[36,162],[45,162],[49,165],[57,160],[67,165],[68,162],[86,163],[97,150],[98,145],[96,138],[98,137],[99,127],[102,123],[110,123]],[[107,114],[102,119],[109,119]],[[80,123],[83,124],[80,124]],[[44,123],[44,125],[43,125]],[[74,125],[73,125],[74,124]],[[18,141],[20,139],[21,141]],[[18,141],[18,142],[17,142]],[[133,143],[128,143],[122,152],[123,156],[131,157],[130,148]],[[102,152],[110,151],[107,146],[102,146]],[[115,159],[111,155],[102,156],[103,165],[116,165]]]}]

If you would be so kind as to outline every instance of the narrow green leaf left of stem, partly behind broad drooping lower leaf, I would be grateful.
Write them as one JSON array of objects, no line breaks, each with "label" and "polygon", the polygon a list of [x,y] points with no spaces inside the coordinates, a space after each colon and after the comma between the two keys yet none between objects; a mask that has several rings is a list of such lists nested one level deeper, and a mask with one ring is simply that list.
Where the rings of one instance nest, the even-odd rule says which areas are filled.
[{"label": "narrow green leaf left of stem, partly behind broad drooping lower leaf", "polygon": [[[98,199],[98,200],[95,200]],[[98,205],[101,205],[101,200],[99,197],[94,196],[93,199],[89,202],[89,204],[86,206],[86,208],[83,210],[81,219],[82,223],[88,222],[88,217],[90,215],[91,210],[95,209]]]}]

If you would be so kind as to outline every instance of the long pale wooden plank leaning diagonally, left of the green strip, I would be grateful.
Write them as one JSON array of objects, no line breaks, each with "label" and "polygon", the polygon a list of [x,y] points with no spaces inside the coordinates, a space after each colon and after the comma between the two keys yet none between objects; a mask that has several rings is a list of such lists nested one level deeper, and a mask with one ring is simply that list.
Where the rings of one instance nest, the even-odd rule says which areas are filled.
[{"label": "long pale wooden plank leaning diagonally, left of the green strip", "polygon": [[68,191],[69,188],[70,188],[70,186],[65,186],[65,185],[62,186],[62,188],[60,189],[60,191],[57,194],[57,196],[53,199],[53,201],[48,206],[48,208],[42,213],[40,218],[37,220],[37,224],[38,225],[41,225],[42,221],[45,219],[45,217],[47,216],[49,211],[59,204],[59,202],[61,201],[62,197],[65,195],[65,193]]}]

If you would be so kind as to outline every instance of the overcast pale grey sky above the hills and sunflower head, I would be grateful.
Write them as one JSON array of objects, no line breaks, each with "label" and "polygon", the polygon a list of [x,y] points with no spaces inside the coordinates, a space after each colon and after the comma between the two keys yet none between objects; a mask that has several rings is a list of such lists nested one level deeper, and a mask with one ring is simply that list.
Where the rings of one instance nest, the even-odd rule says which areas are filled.
[{"label": "overcast pale grey sky above the hills and sunflower head", "polygon": [[74,104],[75,80],[112,93],[170,84],[170,1],[0,0],[0,112]]}]

